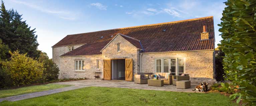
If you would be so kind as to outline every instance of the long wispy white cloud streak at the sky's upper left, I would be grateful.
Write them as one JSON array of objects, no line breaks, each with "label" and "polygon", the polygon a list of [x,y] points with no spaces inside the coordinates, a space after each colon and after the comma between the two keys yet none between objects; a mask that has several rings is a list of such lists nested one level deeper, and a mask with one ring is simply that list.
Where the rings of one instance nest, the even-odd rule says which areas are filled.
[{"label": "long wispy white cloud streak at the sky's upper left", "polygon": [[28,6],[30,8],[34,8],[34,9],[39,10],[39,11],[44,12],[44,13],[54,14],[54,15],[58,16],[59,18],[62,18],[62,19],[66,19],[66,20],[75,20],[75,19],[77,19],[75,17],[75,14],[73,14],[73,12],[70,12],[70,11],[50,10],[50,9],[46,9],[46,8],[40,7],[38,5],[27,3],[27,2],[24,2],[24,1],[17,1],[17,0],[11,0],[11,1],[14,2],[14,3],[17,3],[17,4],[22,4],[22,5]]}]

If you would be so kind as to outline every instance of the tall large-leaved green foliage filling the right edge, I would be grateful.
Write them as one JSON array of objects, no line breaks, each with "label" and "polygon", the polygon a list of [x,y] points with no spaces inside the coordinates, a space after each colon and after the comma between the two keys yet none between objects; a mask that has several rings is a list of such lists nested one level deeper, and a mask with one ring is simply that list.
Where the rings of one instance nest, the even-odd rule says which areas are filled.
[{"label": "tall large-leaved green foliage filling the right edge", "polygon": [[240,92],[230,96],[256,105],[256,1],[228,0],[221,18],[220,49],[225,53],[223,66],[227,80],[239,86]]}]

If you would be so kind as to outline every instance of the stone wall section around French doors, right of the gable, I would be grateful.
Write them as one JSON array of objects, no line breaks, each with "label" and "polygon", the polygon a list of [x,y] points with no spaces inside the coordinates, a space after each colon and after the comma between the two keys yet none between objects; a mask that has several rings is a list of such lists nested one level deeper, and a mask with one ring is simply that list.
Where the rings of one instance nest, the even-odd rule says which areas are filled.
[{"label": "stone wall section around French doors, right of the gable", "polygon": [[214,51],[142,54],[142,72],[155,73],[155,58],[184,58],[184,73],[194,83],[214,80]]}]

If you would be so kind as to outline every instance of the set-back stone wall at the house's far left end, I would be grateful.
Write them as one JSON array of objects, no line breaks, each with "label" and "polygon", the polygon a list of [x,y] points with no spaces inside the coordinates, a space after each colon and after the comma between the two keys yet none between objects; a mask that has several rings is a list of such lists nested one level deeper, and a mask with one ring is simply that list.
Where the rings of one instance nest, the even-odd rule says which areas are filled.
[{"label": "set-back stone wall at the house's far left end", "polygon": [[[74,49],[82,46],[82,45],[73,45]],[[58,65],[58,67],[61,65],[60,64],[60,57],[62,54],[65,54],[68,52],[68,47],[69,46],[60,46],[60,47],[53,47],[52,48],[52,61]],[[59,67],[60,68],[60,67]]]}]

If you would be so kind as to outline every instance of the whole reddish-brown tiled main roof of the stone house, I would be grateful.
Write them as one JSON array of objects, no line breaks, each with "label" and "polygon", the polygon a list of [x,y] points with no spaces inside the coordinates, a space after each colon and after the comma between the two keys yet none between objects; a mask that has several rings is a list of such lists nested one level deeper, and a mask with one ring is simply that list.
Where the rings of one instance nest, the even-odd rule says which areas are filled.
[{"label": "whole reddish-brown tiled main roof of the stone house", "polygon": [[[209,40],[201,41],[203,25],[207,26]],[[163,31],[163,30],[166,31]],[[171,51],[190,51],[190,50],[209,50],[214,49],[214,23],[213,17],[203,17],[183,21],[110,29],[96,32],[67,35],[56,43],[53,47],[85,44],[62,56],[77,55],[97,55],[116,34],[122,34],[133,38],[129,42],[140,40],[142,53],[148,52],[171,52]],[[103,36],[103,38],[100,38]],[[125,37],[124,37],[125,38]],[[139,48],[138,42],[132,43]]]}]

